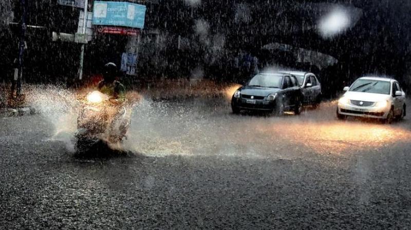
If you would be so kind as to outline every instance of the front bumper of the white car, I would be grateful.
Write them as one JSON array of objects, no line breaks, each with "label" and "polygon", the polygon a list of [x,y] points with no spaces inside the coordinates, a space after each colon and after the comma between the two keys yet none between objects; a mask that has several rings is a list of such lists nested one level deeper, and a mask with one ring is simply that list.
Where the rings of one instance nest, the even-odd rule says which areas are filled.
[{"label": "front bumper of the white car", "polygon": [[361,107],[354,105],[339,104],[338,113],[345,116],[355,116],[363,118],[387,118],[389,113],[388,106],[386,108],[379,107]]}]

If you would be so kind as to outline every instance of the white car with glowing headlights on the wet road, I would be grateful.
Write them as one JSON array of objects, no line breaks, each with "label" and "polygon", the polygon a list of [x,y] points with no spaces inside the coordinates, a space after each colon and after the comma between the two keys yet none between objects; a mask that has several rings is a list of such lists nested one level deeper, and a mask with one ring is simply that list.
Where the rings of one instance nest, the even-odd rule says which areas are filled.
[{"label": "white car with glowing headlights on the wet road", "polygon": [[357,79],[338,101],[337,118],[347,116],[383,119],[403,119],[406,115],[405,93],[400,84],[389,78],[363,77]]}]

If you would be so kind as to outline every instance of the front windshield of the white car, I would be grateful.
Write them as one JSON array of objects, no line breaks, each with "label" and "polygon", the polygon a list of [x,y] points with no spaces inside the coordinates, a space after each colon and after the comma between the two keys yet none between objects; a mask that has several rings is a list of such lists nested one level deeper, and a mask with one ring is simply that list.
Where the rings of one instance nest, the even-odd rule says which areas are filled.
[{"label": "front windshield of the white car", "polygon": [[391,84],[387,81],[359,79],[349,91],[389,94]]}]

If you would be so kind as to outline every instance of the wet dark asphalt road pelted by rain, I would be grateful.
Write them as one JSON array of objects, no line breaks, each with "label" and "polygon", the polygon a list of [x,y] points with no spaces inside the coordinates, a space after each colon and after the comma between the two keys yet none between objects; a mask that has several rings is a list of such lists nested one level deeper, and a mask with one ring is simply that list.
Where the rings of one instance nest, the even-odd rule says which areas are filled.
[{"label": "wet dark asphalt road pelted by rain", "polygon": [[145,100],[105,159],[74,156],[72,112],[1,119],[0,228],[409,228],[411,120],[334,117]]}]

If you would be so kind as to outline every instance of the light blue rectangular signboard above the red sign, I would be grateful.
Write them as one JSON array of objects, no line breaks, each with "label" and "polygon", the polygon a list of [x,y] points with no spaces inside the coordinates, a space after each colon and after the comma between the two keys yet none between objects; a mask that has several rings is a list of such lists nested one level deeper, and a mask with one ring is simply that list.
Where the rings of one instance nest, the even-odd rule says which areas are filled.
[{"label": "light blue rectangular signboard above the red sign", "polygon": [[144,28],[146,7],[127,2],[94,2],[93,25]]}]

